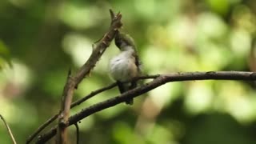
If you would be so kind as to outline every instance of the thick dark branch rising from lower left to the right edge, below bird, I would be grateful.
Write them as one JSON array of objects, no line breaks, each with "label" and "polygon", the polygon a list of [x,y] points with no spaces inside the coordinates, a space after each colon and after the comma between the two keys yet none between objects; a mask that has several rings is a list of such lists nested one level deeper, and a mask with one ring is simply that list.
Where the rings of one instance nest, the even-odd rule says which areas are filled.
[{"label": "thick dark branch rising from lower left to the right edge, below bird", "polygon": [[[191,80],[243,80],[243,81],[255,81],[256,73],[254,72],[242,72],[242,71],[209,71],[209,72],[186,72],[186,73],[173,73],[173,74],[158,74],[153,76],[146,76],[142,78],[154,78],[153,81],[146,83],[143,86],[139,86],[133,90],[126,91],[125,93],[118,95],[114,98],[109,98],[106,101],[98,102],[86,109],[81,110],[78,114],[74,114],[69,118],[69,126],[79,122],[83,118],[90,116],[98,111],[106,108],[118,105],[125,102],[127,98],[135,98],[141,94],[162,86],[167,82],[180,82]],[[43,134],[38,138],[37,143],[47,142],[56,134],[56,128],[53,128],[48,133]]]}]

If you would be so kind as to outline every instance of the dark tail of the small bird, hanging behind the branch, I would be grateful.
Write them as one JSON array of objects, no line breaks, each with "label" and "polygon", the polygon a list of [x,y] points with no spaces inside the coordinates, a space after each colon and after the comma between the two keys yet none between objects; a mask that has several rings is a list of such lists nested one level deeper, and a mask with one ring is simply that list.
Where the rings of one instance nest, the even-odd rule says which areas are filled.
[{"label": "dark tail of the small bird, hanging behind the branch", "polygon": [[[118,89],[119,89],[121,94],[128,91],[128,90],[132,90],[135,87],[137,87],[137,82],[131,82],[130,86],[126,86],[126,84],[124,84],[122,82],[117,82],[117,83],[118,83]],[[134,104],[134,98],[129,98],[125,102],[126,102],[127,105],[133,105]]]}]

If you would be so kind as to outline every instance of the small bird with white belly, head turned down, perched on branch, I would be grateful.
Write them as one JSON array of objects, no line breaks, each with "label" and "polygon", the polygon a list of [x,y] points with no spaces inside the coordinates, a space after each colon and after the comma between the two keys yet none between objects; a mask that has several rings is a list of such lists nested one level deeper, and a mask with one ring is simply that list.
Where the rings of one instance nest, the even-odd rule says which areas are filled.
[{"label": "small bird with white belly, head turned down, perched on branch", "polygon": [[[123,94],[137,87],[136,81],[127,81],[142,74],[142,62],[138,58],[134,39],[129,34],[118,32],[114,42],[120,53],[110,59],[110,76],[117,82],[119,92]],[[130,98],[125,102],[127,105],[133,105],[134,100]]]}]

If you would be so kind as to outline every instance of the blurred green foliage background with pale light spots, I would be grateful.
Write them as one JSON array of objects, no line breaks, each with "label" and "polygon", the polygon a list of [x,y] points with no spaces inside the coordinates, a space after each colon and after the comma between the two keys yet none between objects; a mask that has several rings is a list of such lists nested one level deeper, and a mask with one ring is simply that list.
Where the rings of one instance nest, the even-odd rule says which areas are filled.
[{"label": "blurred green foliage background with pale light spots", "polygon": [[[78,70],[122,12],[146,74],[256,70],[254,0],[1,0],[0,114],[18,143],[58,113],[69,68]],[[114,43],[74,99],[109,85]],[[73,73],[74,74],[74,73]],[[256,143],[256,85],[240,81],[171,82],[85,118],[80,143]],[[108,90],[71,110],[118,95]],[[48,128],[49,130],[49,128]],[[75,143],[74,126],[69,128]],[[0,143],[11,143],[0,122]],[[52,139],[49,143],[54,143]]]}]

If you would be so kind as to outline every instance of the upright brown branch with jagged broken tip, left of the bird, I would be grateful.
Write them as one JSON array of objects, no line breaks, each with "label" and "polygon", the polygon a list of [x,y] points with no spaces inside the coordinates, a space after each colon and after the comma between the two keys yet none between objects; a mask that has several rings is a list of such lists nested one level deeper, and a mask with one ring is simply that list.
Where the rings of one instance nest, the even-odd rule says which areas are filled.
[{"label": "upright brown branch with jagged broken tip, left of the bird", "polygon": [[[59,113],[59,125],[58,125],[58,140],[63,143],[62,140],[66,137],[66,126],[68,125],[67,117],[69,116],[70,104],[72,102],[74,89],[78,88],[78,84],[82,82],[82,79],[86,77],[86,75],[90,74],[90,71],[93,70],[94,66],[98,62],[99,58],[105,52],[106,48],[110,46],[110,42],[114,39],[115,34],[121,28],[122,22],[122,14],[118,13],[114,15],[114,12],[110,10],[110,30],[103,36],[103,38],[98,42],[96,47],[93,47],[93,52],[90,55],[90,58],[86,61],[86,63],[78,70],[78,73],[74,75],[74,77],[69,76],[67,78],[66,86],[63,90],[62,94],[62,108]],[[30,143],[32,139],[38,134],[44,127],[48,126],[55,117],[50,118],[47,123],[40,126],[34,134],[27,139],[26,143]]]}]

